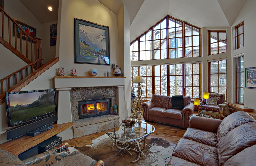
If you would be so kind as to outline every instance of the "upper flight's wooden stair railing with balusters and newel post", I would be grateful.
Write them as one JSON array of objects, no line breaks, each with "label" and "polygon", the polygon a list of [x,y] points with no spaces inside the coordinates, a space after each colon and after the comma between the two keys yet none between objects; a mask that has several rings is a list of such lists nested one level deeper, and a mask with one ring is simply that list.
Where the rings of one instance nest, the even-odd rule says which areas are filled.
[{"label": "upper flight's wooden stair railing with balusters and newel post", "polygon": [[[0,24],[1,24],[0,28],[2,29],[2,36],[0,36],[0,43],[2,43],[6,48],[11,50],[14,54],[16,54],[18,57],[20,57],[27,64],[30,64],[33,61],[37,61],[38,59],[41,59],[41,60],[37,61],[37,64],[35,65],[35,66],[37,66],[37,68],[35,68],[35,69],[40,68],[42,66],[42,50],[40,48],[41,39],[36,38],[36,37],[32,38],[1,7],[0,7],[0,11],[2,13],[1,22],[0,22]],[[4,22],[5,22],[5,18],[6,18],[4,16],[6,16],[8,19],[8,37],[7,37],[8,39],[5,38],[5,35],[7,33],[4,31]],[[13,23],[14,39],[11,34],[11,22]],[[19,39],[19,37],[17,37],[17,28],[20,29],[20,39]],[[22,40],[23,36],[25,37],[25,41]],[[17,41],[20,41],[19,47],[18,47]],[[29,44],[29,42],[30,42],[30,44]],[[23,44],[25,44],[25,49],[24,49]],[[33,50],[33,45],[34,45],[34,50]],[[29,55],[29,53],[30,53],[30,55]],[[33,56],[34,56],[34,58],[33,58]]]}]

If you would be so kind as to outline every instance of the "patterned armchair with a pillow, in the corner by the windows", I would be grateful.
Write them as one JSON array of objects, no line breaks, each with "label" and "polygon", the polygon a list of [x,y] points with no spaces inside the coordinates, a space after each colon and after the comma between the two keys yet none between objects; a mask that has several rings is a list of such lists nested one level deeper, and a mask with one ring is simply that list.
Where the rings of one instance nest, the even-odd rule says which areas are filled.
[{"label": "patterned armchair with a pillow, in the corner by the windows", "polygon": [[[204,99],[203,113],[216,119],[225,117],[225,94],[209,92],[209,99]],[[198,106],[200,112],[200,105]]]}]

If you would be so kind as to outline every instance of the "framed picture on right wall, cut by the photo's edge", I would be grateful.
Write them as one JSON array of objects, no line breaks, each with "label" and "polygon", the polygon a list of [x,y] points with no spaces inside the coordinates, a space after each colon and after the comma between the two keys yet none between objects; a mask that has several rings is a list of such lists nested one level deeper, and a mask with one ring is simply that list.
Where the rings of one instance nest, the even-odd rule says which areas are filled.
[{"label": "framed picture on right wall, cut by the photo's edge", "polygon": [[245,68],[245,88],[256,89],[256,67]]}]

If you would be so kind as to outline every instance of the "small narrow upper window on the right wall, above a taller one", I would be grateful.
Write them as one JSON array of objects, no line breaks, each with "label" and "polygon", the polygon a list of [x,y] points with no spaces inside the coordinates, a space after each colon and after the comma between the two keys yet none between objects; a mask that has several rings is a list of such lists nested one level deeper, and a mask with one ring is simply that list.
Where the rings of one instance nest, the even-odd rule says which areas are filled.
[{"label": "small narrow upper window on the right wall, above a taller one", "polygon": [[244,47],[244,21],[235,27],[236,49]]}]

